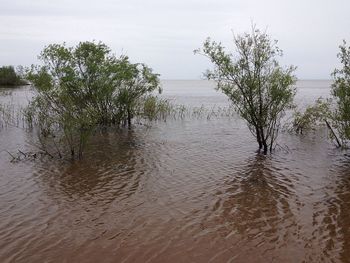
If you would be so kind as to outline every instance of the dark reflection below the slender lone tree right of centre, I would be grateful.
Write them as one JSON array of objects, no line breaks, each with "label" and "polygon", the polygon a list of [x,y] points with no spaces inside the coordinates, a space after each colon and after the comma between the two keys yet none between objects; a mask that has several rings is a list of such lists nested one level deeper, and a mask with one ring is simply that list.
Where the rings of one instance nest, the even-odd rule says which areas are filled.
[{"label": "dark reflection below the slender lone tree right of centre", "polygon": [[[285,182],[273,173],[270,161],[258,155],[226,182],[229,187],[221,198],[221,216],[230,231],[247,235],[247,240],[259,235],[262,242],[269,242],[272,237],[276,243],[283,236],[286,229],[278,231],[278,222],[293,216],[289,207],[289,200],[293,199]],[[252,229],[253,233],[249,233]]]}]

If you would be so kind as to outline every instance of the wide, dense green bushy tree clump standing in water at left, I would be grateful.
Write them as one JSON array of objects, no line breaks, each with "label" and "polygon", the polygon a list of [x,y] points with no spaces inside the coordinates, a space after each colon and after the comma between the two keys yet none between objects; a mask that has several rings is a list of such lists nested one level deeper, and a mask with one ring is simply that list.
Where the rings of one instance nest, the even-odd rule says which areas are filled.
[{"label": "wide, dense green bushy tree clump standing in water at left", "polygon": [[131,125],[141,99],[159,88],[150,68],[117,58],[103,43],[52,44],[39,58],[43,65],[27,72],[37,96],[25,114],[45,140],[67,145],[72,158],[76,150],[82,156],[95,128]]}]

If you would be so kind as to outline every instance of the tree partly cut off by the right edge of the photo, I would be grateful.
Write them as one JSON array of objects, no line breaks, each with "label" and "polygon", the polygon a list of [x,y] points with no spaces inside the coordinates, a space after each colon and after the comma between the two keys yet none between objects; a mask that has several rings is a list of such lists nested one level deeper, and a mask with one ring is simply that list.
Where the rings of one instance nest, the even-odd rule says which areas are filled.
[{"label": "tree partly cut off by the right edge of the photo", "polygon": [[339,48],[338,58],[342,68],[335,69],[332,73],[332,95],[337,105],[334,114],[335,127],[344,141],[350,139],[350,47],[344,40]]}]

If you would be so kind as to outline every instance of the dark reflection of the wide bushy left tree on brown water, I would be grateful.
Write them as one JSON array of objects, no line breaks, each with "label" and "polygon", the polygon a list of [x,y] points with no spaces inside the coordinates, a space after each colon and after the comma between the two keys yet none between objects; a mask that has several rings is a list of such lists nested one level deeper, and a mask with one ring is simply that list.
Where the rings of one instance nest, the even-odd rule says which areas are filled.
[{"label": "dark reflection of the wide bushy left tree on brown water", "polygon": [[[92,149],[85,160],[63,165],[64,170],[56,170],[46,178],[48,182],[69,198],[108,192],[111,200],[102,200],[108,202],[114,199],[113,196],[130,196],[137,189],[140,176],[145,173],[145,167],[139,164],[143,160],[143,152],[137,145],[135,133],[125,130],[119,136],[101,134],[93,143],[96,145],[90,146]],[[47,165],[40,164],[39,169],[37,173],[45,173]]]}]

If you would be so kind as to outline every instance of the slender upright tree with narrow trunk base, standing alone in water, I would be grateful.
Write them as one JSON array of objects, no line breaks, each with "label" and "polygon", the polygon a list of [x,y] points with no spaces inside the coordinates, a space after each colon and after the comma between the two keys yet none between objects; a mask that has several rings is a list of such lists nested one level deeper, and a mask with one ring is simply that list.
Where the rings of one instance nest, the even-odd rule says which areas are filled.
[{"label": "slender upright tree with narrow trunk base, standing alone in water", "polygon": [[293,106],[295,67],[279,66],[282,51],[277,41],[254,27],[250,34],[234,36],[234,44],[236,51],[230,53],[208,38],[195,53],[204,54],[214,64],[205,76],[215,80],[217,89],[230,98],[256,137],[259,151],[266,154],[273,149],[281,117]]}]

